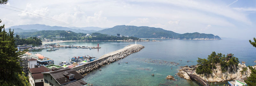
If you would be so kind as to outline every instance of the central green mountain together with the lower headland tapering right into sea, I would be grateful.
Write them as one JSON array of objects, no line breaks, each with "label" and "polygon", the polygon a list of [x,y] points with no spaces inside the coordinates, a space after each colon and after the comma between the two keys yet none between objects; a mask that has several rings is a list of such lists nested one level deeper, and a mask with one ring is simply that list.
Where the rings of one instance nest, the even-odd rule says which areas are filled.
[{"label": "central green mountain together with the lower headland tapering right into sea", "polygon": [[178,34],[173,31],[164,30],[162,28],[146,27],[146,26],[125,26],[119,25],[112,28],[107,28],[98,31],[98,33],[123,36],[133,36],[138,38],[175,38],[175,39],[195,39],[195,40],[207,40],[215,39],[220,40],[219,36],[212,34],[200,34],[200,33],[185,33]]}]

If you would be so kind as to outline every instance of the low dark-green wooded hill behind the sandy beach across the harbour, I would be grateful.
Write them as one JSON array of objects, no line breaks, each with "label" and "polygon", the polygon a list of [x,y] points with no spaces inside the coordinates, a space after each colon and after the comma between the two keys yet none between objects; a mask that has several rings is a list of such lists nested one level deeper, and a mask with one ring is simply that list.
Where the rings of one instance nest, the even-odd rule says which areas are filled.
[{"label": "low dark-green wooded hill behind the sandy beach across the harbour", "polygon": [[[40,37],[47,39],[58,39],[58,40],[88,40],[88,41],[107,41],[107,40],[140,40],[136,37],[117,37],[113,35],[101,34],[101,33],[92,33],[91,36],[86,36],[84,33],[75,33],[72,31],[64,31],[64,30],[42,30],[36,32],[21,32],[16,33],[20,35],[21,38],[28,37]],[[58,36],[58,38],[56,38]]]}]

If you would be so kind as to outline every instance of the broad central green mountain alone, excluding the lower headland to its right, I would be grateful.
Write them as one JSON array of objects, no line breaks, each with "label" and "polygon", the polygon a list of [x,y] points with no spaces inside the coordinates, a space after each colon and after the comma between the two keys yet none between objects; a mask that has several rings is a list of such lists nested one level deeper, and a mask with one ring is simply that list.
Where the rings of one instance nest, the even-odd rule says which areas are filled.
[{"label": "broad central green mountain alone, excluding the lower headland to its right", "polygon": [[173,36],[179,35],[178,33],[174,33],[173,31],[164,30],[162,28],[155,27],[146,27],[146,26],[125,26],[119,25],[112,28],[107,28],[98,31],[98,33],[116,35],[120,34],[123,36],[133,36],[138,38],[172,38]]}]

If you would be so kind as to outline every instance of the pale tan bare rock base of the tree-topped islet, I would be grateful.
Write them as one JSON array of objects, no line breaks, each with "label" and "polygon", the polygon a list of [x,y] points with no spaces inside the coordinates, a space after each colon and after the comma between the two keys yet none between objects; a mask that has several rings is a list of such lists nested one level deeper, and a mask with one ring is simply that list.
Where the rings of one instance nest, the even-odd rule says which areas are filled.
[{"label": "pale tan bare rock base of the tree-topped islet", "polygon": [[[249,67],[247,67],[247,70],[244,71],[244,73],[242,73],[241,71],[243,70],[244,67],[247,67],[247,66],[245,64],[239,63],[237,71],[222,73],[220,65],[216,65],[216,69],[213,69],[212,74],[209,76],[204,76],[203,74],[196,74],[195,70],[192,72],[192,74],[200,76],[203,80],[208,81],[208,82],[224,82],[224,81],[229,81],[229,80],[247,79],[247,77],[249,77],[251,75],[251,70],[249,69]],[[255,68],[256,66],[252,66],[252,67]],[[191,73],[186,72],[187,69],[188,69],[188,71],[191,71],[191,70],[189,70],[191,68],[184,67],[184,68],[180,69],[177,74],[182,78],[190,80],[188,73],[189,74],[191,74]]]}]

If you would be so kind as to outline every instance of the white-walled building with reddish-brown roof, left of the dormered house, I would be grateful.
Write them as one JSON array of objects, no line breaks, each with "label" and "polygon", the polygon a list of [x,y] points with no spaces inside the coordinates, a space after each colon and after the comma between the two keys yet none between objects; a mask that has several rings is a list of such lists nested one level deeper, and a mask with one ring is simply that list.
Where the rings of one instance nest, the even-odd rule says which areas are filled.
[{"label": "white-walled building with reddish-brown roof, left of the dormered house", "polygon": [[29,68],[28,78],[31,86],[44,86],[44,75],[42,73],[49,71],[50,70],[44,66]]}]

